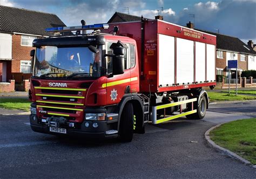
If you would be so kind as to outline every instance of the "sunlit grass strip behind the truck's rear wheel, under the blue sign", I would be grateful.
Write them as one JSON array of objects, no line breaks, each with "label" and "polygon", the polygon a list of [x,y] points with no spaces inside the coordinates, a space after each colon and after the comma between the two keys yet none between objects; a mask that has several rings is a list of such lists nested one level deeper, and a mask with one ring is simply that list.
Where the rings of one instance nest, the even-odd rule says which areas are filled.
[{"label": "sunlit grass strip behind the truck's rear wheel, under the blue sign", "polygon": [[235,95],[235,94],[226,94],[226,93],[219,93],[219,92],[207,92],[210,101],[242,101],[242,100],[253,100],[256,97],[248,96],[248,95]]}]

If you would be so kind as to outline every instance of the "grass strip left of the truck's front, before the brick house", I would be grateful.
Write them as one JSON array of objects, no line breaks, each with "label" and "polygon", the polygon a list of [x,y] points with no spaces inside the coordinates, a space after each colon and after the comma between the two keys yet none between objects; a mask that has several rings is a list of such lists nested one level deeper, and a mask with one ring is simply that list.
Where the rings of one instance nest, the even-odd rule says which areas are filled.
[{"label": "grass strip left of the truck's front, before the brick house", "polygon": [[28,99],[23,99],[23,98],[0,99],[0,108],[30,111],[30,104],[31,102]]}]

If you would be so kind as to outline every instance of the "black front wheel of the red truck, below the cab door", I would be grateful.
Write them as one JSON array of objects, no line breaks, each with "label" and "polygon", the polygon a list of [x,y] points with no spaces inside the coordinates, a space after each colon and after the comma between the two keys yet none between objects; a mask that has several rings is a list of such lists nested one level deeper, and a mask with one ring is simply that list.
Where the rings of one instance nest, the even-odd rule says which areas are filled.
[{"label": "black front wheel of the red truck, below the cab door", "polygon": [[130,102],[124,106],[120,119],[119,139],[122,142],[131,142],[133,137],[133,107]]}]

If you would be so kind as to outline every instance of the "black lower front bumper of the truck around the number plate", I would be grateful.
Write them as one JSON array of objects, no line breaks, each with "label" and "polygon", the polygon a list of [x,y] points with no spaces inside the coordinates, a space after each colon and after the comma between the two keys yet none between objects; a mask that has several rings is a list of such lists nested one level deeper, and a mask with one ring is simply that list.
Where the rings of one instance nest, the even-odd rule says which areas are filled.
[{"label": "black lower front bumper of the truck around the number plate", "polygon": [[[85,123],[89,123],[88,127],[85,127]],[[92,124],[97,122],[98,127],[93,127]],[[66,134],[60,134],[55,132],[50,132],[50,127],[47,123],[42,122],[41,119],[38,119],[36,115],[30,115],[30,127],[33,131],[44,133],[44,134],[53,134],[53,135],[70,135],[77,137],[86,137],[86,138],[105,138],[105,137],[117,137],[117,134],[106,135],[106,130],[112,128],[113,126],[107,125],[106,121],[84,121],[82,124],[78,124],[75,128],[70,128],[68,126],[59,126],[60,128],[66,129]]]}]

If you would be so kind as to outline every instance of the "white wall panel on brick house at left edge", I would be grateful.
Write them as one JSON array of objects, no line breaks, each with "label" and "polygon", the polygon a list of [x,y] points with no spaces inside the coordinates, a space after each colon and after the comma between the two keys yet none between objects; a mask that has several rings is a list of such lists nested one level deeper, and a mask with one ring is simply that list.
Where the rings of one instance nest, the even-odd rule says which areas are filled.
[{"label": "white wall panel on brick house at left edge", "polygon": [[0,59],[11,59],[12,36],[0,33]]}]

